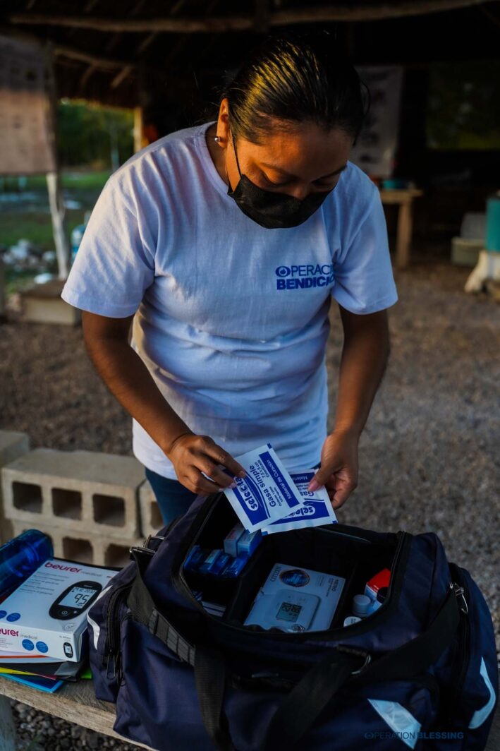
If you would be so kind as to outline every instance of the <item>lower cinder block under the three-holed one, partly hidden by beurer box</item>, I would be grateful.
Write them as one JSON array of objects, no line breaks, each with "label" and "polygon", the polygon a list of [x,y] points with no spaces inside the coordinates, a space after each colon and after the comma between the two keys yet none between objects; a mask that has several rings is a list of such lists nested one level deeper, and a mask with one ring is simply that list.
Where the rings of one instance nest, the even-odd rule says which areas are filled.
[{"label": "lower cinder block under the three-holed one, partly hidden by beurer box", "polygon": [[[14,537],[32,529],[32,526],[20,521],[13,522]],[[122,568],[130,561],[130,548],[141,545],[143,538],[113,540],[98,535],[77,535],[56,527],[38,524],[35,529],[50,537],[54,556],[95,566],[117,566]]]}]

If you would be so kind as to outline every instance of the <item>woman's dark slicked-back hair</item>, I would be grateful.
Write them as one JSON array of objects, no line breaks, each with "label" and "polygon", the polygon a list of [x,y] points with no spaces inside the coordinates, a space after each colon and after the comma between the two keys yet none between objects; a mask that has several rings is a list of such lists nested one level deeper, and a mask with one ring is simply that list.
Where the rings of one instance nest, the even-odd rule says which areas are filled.
[{"label": "woman's dark slicked-back hair", "polygon": [[[270,35],[245,60],[219,94],[227,97],[235,135],[261,144],[270,131],[313,122],[341,128],[354,143],[369,110],[363,82],[327,31]],[[369,90],[368,93],[369,101]]]}]

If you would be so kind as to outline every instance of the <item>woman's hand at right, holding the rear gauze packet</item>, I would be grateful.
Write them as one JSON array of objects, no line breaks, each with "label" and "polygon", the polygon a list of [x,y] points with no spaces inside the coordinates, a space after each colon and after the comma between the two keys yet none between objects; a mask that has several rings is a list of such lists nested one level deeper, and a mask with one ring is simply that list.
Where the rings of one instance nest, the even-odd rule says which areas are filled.
[{"label": "woman's hand at right, holding the rear gauze packet", "polygon": [[327,488],[333,508],[340,508],[357,486],[357,433],[333,431],[321,449],[321,467],[309,483],[309,490]]}]

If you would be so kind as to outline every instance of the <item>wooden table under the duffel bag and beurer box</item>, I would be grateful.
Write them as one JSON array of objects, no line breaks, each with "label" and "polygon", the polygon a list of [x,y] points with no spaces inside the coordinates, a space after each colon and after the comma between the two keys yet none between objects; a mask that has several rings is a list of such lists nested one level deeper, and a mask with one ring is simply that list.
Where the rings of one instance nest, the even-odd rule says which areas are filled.
[{"label": "wooden table under the duffel bag and beurer box", "polygon": [[[21,683],[0,677],[0,751],[14,751],[16,731],[8,698],[21,701],[47,714],[62,717],[68,722],[76,722],[84,728],[111,735],[120,740],[128,740],[113,730],[115,706],[95,698],[92,680],[79,680],[66,683],[54,694],[47,694]],[[133,741],[128,740],[128,743]],[[140,748],[149,749],[142,743]],[[485,751],[500,749],[500,704],[497,704],[495,719],[489,733]],[[150,749],[151,751],[151,749]]]}]

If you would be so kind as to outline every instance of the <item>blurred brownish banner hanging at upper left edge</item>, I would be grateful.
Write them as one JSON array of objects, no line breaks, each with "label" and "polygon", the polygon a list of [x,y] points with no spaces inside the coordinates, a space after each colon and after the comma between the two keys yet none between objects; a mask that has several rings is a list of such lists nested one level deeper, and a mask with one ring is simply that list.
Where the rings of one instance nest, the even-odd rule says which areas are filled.
[{"label": "blurred brownish banner hanging at upper left edge", "polygon": [[56,169],[49,83],[42,47],[0,36],[0,175]]}]

